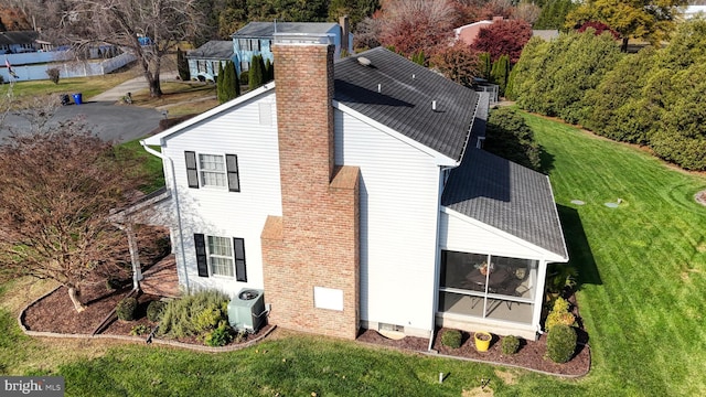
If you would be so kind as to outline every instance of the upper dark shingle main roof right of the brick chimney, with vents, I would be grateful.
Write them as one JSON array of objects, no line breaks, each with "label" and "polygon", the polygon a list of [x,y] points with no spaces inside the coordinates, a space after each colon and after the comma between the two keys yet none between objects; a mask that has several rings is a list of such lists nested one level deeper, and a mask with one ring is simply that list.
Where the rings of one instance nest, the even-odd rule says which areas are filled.
[{"label": "upper dark shingle main roof right of the brick chimney, with vents", "polygon": [[[360,57],[370,60],[370,66],[362,65]],[[472,89],[383,47],[338,61],[334,78],[339,103],[453,160],[461,159],[478,104]]]}]

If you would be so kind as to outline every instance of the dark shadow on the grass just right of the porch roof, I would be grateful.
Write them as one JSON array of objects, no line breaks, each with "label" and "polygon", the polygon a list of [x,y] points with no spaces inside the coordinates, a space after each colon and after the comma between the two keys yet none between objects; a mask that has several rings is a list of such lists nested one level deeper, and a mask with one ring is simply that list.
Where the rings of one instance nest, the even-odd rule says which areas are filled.
[{"label": "dark shadow on the grass just right of the porch roof", "polygon": [[584,285],[602,285],[603,282],[600,279],[598,267],[596,267],[588,238],[584,233],[584,225],[578,211],[558,204],[557,210],[569,251],[569,262],[567,265],[578,270],[576,289],[580,290]]}]

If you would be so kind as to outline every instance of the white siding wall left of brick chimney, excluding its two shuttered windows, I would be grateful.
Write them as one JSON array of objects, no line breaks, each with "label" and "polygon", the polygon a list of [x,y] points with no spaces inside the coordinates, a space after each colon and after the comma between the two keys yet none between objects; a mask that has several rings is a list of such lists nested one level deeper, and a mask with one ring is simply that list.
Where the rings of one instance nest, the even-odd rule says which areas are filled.
[{"label": "white siding wall left of brick chimney, excluding its two shuttered windows", "polygon": [[[260,103],[267,105],[260,106]],[[277,115],[270,112],[270,125],[260,122],[265,112],[263,108],[274,106],[275,93],[265,93],[174,133],[162,148],[162,152],[174,162],[184,230],[184,255],[178,255],[176,260],[183,267],[185,258],[192,288],[217,288],[235,294],[245,287],[264,287],[260,233],[268,215],[281,216]],[[184,151],[237,154],[240,192],[190,189]],[[247,282],[199,277],[194,233],[244,238]],[[182,277],[180,281],[183,283],[185,280]]]}]

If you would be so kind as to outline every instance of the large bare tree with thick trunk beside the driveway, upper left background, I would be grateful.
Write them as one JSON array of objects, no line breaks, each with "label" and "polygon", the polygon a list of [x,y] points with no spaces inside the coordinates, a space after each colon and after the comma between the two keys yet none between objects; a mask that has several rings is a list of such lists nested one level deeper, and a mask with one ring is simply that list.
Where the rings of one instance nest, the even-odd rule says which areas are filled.
[{"label": "large bare tree with thick trunk beside the driveway, upper left background", "polygon": [[168,52],[191,37],[203,21],[196,0],[66,0],[66,33],[78,47],[113,44],[138,60],[150,96],[160,97]]}]

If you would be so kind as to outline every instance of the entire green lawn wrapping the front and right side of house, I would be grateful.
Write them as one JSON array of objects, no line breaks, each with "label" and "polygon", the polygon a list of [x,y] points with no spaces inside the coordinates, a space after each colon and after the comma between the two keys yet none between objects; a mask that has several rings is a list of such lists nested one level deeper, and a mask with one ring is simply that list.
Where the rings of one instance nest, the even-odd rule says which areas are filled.
[{"label": "entire green lawn wrapping the front and right side of house", "polygon": [[[19,305],[4,303],[29,299],[21,290],[31,285],[17,281],[0,291],[0,373],[63,375],[67,396],[490,395],[479,389],[481,378],[491,379],[495,396],[706,395],[706,207],[693,200],[706,179],[571,127],[526,119],[545,150],[571,264],[580,270],[593,360],[582,379],[308,335],[225,354],[34,340],[19,333]],[[603,205],[619,197],[618,208]],[[441,385],[440,372],[450,374]]]}]

